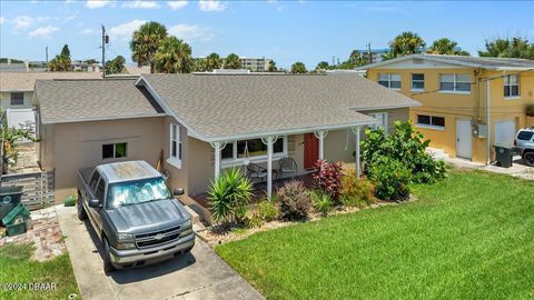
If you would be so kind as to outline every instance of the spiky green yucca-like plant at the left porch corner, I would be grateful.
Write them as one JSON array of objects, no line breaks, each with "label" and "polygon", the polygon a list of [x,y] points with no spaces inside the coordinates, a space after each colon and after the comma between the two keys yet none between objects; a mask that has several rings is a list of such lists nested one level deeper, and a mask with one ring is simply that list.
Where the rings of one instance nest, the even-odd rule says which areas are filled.
[{"label": "spiky green yucca-like plant at the left porch corner", "polygon": [[208,200],[211,201],[211,213],[216,221],[243,222],[253,196],[253,184],[239,169],[230,169],[211,182]]}]

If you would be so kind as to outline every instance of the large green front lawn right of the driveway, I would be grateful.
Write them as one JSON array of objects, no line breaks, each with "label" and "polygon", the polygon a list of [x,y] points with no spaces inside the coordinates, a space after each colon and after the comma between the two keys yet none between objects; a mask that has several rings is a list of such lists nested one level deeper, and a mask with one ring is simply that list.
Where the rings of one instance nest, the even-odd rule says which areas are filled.
[{"label": "large green front lawn right of the driveway", "polygon": [[268,299],[534,298],[534,182],[452,171],[414,191],[216,251]]}]

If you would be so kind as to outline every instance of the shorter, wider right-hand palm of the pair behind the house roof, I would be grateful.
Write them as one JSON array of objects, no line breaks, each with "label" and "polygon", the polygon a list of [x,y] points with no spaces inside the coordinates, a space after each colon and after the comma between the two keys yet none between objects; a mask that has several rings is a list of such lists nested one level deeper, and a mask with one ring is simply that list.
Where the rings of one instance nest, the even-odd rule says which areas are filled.
[{"label": "shorter, wider right-hand palm of the pair behind the house roof", "polygon": [[161,73],[189,73],[195,68],[191,47],[175,36],[161,41],[154,56],[156,71]]}]

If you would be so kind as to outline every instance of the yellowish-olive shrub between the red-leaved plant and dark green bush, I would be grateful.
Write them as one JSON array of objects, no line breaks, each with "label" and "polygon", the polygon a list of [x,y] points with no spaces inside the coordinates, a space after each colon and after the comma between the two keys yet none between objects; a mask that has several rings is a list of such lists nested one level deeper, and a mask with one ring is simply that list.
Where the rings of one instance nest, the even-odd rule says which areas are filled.
[{"label": "yellowish-olive shrub between the red-leaved plant and dark green bush", "polygon": [[375,186],[367,178],[356,178],[356,170],[345,171],[339,201],[346,207],[363,208],[376,202]]}]

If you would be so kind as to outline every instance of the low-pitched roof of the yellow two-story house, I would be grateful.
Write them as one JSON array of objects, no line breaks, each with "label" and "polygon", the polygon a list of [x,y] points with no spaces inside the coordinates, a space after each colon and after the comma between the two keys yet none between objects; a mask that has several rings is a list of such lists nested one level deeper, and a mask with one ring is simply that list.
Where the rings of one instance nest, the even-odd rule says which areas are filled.
[{"label": "low-pitched roof of the yellow two-story house", "polygon": [[356,70],[367,70],[376,67],[387,66],[393,62],[404,61],[409,59],[426,59],[432,61],[473,67],[473,68],[483,68],[492,70],[530,70],[534,69],[534,60],[528,59],[514,59],[514,58],[486,58],[486,57],[465,57],[465,56],[441,56],[441,54],[411,54],[405,57],[399,57],[390,60],[385,60],[372,64],[366,64],[356,68]]}]

